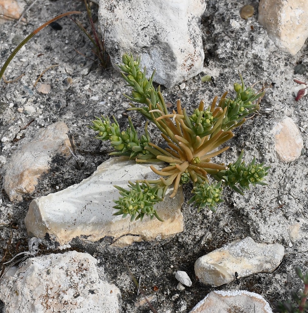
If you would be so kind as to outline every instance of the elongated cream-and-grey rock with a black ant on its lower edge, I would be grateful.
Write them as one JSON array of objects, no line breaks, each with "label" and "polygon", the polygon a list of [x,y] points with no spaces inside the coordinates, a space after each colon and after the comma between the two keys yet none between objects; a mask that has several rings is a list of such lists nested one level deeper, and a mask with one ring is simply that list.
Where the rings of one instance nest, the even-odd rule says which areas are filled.
[{"label": "elongated cream-and-grey rock with a black ant on its lower edge", "polygon": [[238,277],[271,273],[284,255],[281,244],[257,244],[250,237],[223,245],[195,262],[195,274],[202,284],[220,286]]}]

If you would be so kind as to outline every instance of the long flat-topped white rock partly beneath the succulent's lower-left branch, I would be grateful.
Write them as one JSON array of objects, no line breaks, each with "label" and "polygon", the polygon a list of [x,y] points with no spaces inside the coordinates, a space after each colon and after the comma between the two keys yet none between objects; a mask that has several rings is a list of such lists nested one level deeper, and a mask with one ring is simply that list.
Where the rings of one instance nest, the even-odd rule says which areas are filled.
[{"label": "long flat-topped white rock partly beneath the succulent's lower-left branch", "polygon": [[[159,163],[155,167],[159,168]],[[156,205],[157,213],[164,222],[144,217],[142,221],[131,223],[129,217],[123,219],[112,215],[117,212],[112,208],[115,205],[113,199],[119,198],[119,192],[113,185],[128,189],[128,180],[145,178],[157,178],[149,164],[136,164],[125,157],[110,158],[80,184],[33,200],[25,218],[28,234],[44,238],[45,233],[49,233],[60,244],[66,244],[77,236],[96,241],[105,236],[118,238],[130,234],[139,235],[143,240],[153,240],[157,236],[166,238],[181,232],[181,190],[171,199],[168,195],[173,189],[169,189],[165,200]],[[140,240],[138,236],[131,236],[130,240],[134,238]]]}]

